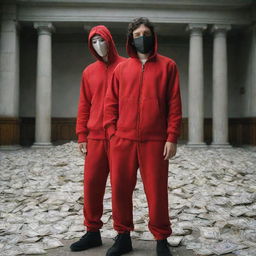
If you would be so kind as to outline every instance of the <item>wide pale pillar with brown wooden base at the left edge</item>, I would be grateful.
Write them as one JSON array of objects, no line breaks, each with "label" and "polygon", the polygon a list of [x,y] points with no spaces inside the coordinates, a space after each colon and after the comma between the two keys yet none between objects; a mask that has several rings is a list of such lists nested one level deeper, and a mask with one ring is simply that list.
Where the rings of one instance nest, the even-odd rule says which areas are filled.
[{"label": "wide pale pillar with brown wooden base at the left edge", "polygon": [[19,25],[15,5],[2,5],[0,23],[0,149],[13,150],[20,148]]}]

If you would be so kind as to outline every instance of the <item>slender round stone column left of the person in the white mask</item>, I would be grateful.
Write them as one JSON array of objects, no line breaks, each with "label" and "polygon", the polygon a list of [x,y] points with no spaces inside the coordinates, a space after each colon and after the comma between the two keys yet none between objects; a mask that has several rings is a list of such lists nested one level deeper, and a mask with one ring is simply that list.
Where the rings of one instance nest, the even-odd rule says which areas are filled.
[{"label": "slender round stone column left of the person in the white mask", "polygon": [[34,24],[38,30],[36,77],[35,143],[32,147],[49,147],[51,143],[52,106],[52,32],[51,23]]}]

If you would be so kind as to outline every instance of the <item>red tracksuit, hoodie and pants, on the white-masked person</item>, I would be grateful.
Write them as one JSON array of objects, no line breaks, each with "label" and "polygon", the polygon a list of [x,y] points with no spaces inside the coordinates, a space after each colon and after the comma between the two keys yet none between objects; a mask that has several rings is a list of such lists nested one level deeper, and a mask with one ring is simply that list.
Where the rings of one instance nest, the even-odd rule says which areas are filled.
[{"label": "red tracksuit, hoodie and pants, on the white-masked person", "polygon": [[[96,34],[107,42],[107,64],[92,46],[91,39]],[[88,46],[98,60],[85,68],[82,74],[76,134],[78,143],[87,142],[84,165],[84,225],[88,231],[97,231],[103,224],[103,197],[109,173],[108,140],[103,129],[103,103],[113,70],[125,58],[118,55],[112,36],[105,26],[96,26],[90,31]]]}]

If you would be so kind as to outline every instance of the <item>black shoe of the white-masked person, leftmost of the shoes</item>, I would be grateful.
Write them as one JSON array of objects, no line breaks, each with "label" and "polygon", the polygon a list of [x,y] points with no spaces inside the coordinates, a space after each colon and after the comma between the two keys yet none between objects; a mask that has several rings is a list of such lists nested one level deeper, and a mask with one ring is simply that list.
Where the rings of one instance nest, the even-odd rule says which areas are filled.
[{"label": "black shoe of the white-masked person, leftmost of the shoes", "polygon": [[70,245],[70,249],[73,252],[79,252],[83,250],[87,250],[93,247],[101,246],[101,236],[100,231],[92,232],[87,231],[85,235],[83,235],[79,241]]}]

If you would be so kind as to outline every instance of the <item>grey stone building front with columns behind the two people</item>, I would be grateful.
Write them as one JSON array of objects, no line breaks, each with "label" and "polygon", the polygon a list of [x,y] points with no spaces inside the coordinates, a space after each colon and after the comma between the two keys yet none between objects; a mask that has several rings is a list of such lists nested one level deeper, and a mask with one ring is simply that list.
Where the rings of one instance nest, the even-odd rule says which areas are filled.
[{"label": "grey stone building front with columns behind the two people", "polygon": [[1,148],[76,140],[81,74],[94,61],[90,28],[106,25],[127,56],[127,25],[140,16],[179,68],[179,142],[256,145],[255,1],[16,0],[0,8]]}]

